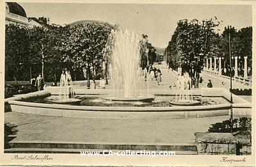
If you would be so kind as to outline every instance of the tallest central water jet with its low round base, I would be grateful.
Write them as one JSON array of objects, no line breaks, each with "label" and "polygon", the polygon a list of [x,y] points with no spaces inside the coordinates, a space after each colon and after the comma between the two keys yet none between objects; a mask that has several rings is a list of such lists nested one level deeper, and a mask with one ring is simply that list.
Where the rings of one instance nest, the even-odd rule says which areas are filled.
[{"label": "tallest central water jet with its low round base", "polygon": [[129,102],[154,100],[154,96],[148,95],[147,88],[143,88],[140,68],[141,38],[127,30],[112,30],[109,36],[112,39],[108,45],[112,48],[110,74],[113,92],[104,99]]}]

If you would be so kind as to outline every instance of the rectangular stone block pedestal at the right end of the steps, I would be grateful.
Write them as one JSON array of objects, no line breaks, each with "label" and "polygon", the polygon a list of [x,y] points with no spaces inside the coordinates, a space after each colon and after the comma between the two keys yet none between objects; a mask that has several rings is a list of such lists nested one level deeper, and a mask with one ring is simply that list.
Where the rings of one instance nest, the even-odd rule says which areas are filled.
[{"label": "rectangular stone block pedestal at the right end of the steps", "polygon": [[231,133],[196,132],[198,154],[236,155],[238,141]]}]

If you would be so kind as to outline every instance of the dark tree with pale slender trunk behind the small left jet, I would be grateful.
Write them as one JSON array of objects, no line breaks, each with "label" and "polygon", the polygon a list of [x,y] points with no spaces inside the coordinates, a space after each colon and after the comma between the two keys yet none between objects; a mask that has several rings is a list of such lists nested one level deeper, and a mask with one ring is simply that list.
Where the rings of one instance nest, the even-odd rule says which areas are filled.
[{"label": "dark tree with pale slender trunk behind the small left jet", "polygon": [[[31,64],[42,65],[41,70],[38,72],[42,72],[42,77],[45,80],[52,81],[53,79],[56,85],[56,70],[61,68],[62,63],[59,45],[61,35],[64,33],[63,28],[49,25],[42,28],[35,26],[28,29],[28,33]],[[47,69],[46,71],[45,68]],[[47,75],[45,75],[45,72]],[[52,76],[52,74],[54,75]]]}]

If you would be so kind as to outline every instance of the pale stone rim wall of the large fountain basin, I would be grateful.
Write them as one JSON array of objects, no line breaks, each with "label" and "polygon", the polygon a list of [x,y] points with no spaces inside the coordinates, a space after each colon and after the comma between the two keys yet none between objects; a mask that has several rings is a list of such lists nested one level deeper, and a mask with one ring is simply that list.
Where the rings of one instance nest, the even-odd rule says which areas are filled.
[{"label": "pale stone rim wall of the large fountain basin", "polygon": [[[108,90],[100,90],[106,95]],[[79,95],[99,95],[99,90],[77,89]],[[154,95],[175,95],[172,90],[151,90]],[[230,92],[223,88],[202,88],[193,90],[193,95],[230,98]],[[10,110],[20,113],[65,116],[76,118],[102,119],[159,119],[159,118],[195,118],[229,115],[230,108],[234,116],[251,116],[252,103],[233,95],[234,104],[216,104],[209,106],[172,106],[172,107],[116,107],[116,106],[68,106],[63,104],[44,104],[38,102],[5,99]]]}]

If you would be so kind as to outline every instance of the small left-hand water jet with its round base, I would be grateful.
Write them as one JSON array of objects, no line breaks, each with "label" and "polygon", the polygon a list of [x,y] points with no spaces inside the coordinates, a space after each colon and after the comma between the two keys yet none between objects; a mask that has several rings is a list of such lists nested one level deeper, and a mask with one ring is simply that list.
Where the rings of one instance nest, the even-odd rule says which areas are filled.
[{"label": "small left-hand water jet with its round base", "polygon": [[75,99],[75,93],[72,84],[72,77],[67,68],[65,72],[62,71],[60,77],[60,92],[58,100],[52,101],[56,104],[72,104],[72,105],[79,105],[81,100]]}]

